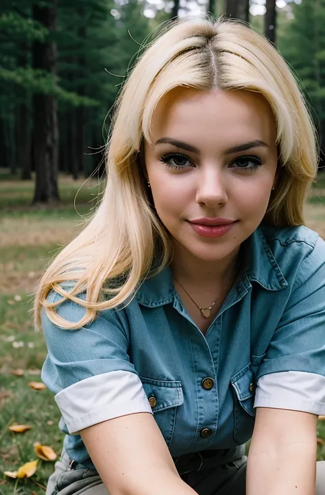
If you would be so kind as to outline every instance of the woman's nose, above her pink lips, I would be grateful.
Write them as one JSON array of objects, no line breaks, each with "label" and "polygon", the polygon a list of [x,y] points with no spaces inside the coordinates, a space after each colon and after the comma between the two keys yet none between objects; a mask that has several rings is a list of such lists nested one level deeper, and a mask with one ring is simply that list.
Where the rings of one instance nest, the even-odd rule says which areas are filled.
[{"label": "woman's nose, above her pink lips", "polygon": [[198,174],[196,202],[208,208],[223,206],[228,202],[225,178],[222,171],[211,167]]}]

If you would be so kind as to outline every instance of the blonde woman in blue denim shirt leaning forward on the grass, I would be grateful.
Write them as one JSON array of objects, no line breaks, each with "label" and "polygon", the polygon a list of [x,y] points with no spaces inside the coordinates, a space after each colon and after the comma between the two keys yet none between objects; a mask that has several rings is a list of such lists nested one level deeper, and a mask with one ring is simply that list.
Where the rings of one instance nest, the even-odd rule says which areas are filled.
[{"label": "blonde woman in blue denim shirt leaning forward on the grass", "polygon": [[119,96],[107,167],[36,297],[67,433],[47,495],[324,494],[317,149],[284,60],[241,23],[171,26]]}]

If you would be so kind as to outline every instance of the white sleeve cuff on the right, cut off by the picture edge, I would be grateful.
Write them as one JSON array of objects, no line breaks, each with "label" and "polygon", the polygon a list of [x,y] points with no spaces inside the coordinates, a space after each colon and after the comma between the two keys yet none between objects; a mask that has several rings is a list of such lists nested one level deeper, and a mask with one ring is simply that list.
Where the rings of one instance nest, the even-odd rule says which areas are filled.
[{"label": "white sleeve cuff on the right, cut off by the picture edge", "polygon": [[325,414],[325,377],[293,371],[263,375],[257,382],[254,407]]}]

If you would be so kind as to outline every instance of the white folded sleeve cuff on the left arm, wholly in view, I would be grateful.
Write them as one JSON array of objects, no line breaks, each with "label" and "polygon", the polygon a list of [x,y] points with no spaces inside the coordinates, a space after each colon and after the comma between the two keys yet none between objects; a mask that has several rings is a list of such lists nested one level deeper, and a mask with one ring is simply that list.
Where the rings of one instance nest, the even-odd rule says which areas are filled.
[{"label": "white folded sleeve cuff on the left arm, wholly in view", "polygon": [[85,378],[54,398],[70,435],[119,416],[152,413],[139,376],[126,371]]}]

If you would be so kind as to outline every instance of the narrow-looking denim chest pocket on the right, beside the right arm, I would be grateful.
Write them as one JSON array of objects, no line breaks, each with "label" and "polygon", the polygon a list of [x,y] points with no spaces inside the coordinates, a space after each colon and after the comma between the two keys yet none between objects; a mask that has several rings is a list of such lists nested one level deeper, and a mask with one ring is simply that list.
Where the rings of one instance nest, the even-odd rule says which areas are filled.
[{"label": "narrow-looking denim chest pocket on the right, beside the right arm", "polygon": [[234,439],[242,445],[252,437],[255,422],[255,383],[250,363],[230,383],[234,396]]}]

